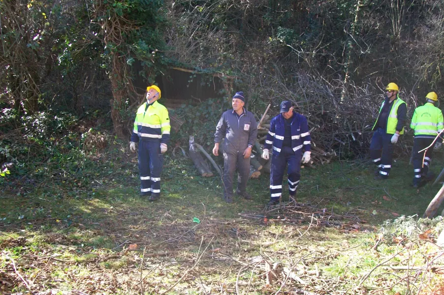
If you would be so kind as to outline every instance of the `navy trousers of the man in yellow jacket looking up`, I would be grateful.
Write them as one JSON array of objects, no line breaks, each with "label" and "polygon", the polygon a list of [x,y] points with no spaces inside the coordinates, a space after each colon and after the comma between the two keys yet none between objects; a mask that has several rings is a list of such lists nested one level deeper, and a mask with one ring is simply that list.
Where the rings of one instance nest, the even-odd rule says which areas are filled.
[{"label": "navy trousers of the man in yellow jacket looking up", "polygon": [[160,174],[163,155],[160,153],[160,140],[139,141],[140,192],[142,195],[160,195]]}]

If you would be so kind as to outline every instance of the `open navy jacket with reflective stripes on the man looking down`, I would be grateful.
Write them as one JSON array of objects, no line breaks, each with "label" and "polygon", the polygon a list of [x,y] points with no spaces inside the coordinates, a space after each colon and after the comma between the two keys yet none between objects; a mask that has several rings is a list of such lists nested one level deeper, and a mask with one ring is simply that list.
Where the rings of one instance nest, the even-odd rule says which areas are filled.
[{"label": "open navy jacket with reflective stripes on the man looking down", "polygon": [[[285,118],[279,114],[271,119],[270,131],[267,134],[264,148],[270,150],[273,145],[273,154],[279,155],[284,143],[285,135]],[[293,112],[291,121],[291,148],[293,151],[298,151],[304,148],[305,151],[310,151],[311,137],[308,129],[307,118]]]}]

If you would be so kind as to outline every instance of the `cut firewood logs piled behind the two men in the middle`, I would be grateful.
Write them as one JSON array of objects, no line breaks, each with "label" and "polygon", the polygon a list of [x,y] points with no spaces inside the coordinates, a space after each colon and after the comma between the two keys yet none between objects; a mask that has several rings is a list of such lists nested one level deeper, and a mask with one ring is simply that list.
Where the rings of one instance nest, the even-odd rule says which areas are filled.
[{"label": "cut firewood logs piled behind the two men in the middle", "polygon": [[[268,108],[267,108],[268,111]],[[266,112],[267,112],[266,111]],[[250,178],[258,178],[261,173],[270,174],[271,171],[271,161],[272,161],[272,151],[270,150],[270,159],[264,160],[261,155],[263,152],[263,144],[267,138],[268,131],[270,129],[270,116],[265,114],[262,116],[261,120],[257,122],[257,139],[254,142],[253,151],[250,157]],[[211,163],[211,166],[222,176],[222,167],[216,164],[210,153],[205,151],[202,146],[194,142],[194,137],[190,136],[190,151],[189,156],[194,163],[199,174],[203,177],[213,176],[213,172],[210,165],[205,160],[205,158]],[[219,154],[223,155],[223,141],[219,145]],[[324,151],[321,148],[316,147],[312,138],[312,148],[311,148],[311,159],[309,163],[301,165],[301,168],[310,167],[315,168],[316,165],[328,164],[332,161],[333,157],[336,157],[336,152],[333,150]]]}]

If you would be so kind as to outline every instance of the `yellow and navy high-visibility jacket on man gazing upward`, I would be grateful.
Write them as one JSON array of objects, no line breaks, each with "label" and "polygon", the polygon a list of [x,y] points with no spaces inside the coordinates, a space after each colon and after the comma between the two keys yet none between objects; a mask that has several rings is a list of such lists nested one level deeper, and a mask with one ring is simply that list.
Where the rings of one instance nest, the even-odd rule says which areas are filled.
[{"label": "yellow and navy high-visibility jacket on man gazing upward", "polygon": [[157,101],[152,105],[144,103],[137,109],[131,141],[136,143],[139,140],[160,140],[160,143],[168,144],[170,130],[168,110]]}]

